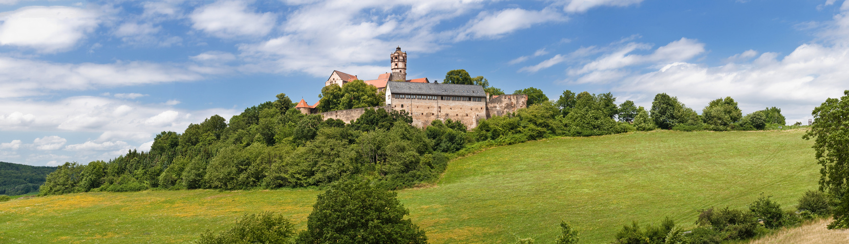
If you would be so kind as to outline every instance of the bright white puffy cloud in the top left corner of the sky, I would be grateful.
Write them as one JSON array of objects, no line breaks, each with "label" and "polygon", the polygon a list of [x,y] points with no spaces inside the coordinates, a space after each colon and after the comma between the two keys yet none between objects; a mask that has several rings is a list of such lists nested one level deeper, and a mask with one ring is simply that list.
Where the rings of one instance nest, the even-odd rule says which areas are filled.
[{"label": "bright white puffy cloud in the top left corner of the sky", "polygon": [[25,7],[0,13],[0,44],[54,53],[76,45],[98,27],[99,14],[71,7]]}]

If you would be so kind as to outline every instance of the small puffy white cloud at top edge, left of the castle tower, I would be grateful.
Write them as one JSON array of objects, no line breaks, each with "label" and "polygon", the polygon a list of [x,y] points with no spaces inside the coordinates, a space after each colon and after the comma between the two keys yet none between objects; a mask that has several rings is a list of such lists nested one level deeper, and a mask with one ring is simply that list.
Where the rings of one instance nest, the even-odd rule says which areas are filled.
[{"label": "small puffy white cloud at top edge, left of the castle tower", "polygon": [[213,36],[266,36],[277,23],[272,13],[253,13],[247,3],[221,1],[197,8],[191,14],[192,27]]}]

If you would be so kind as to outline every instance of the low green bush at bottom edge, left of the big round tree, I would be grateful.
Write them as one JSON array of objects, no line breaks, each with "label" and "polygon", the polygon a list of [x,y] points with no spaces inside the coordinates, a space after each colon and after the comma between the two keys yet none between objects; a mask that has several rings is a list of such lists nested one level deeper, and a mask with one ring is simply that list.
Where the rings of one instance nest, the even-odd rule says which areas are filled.
[{"label": "low green bush at bottom edge, left of the big round tree", "polygon": [[280,214],[245,214],[230,230],[215,235],[211,230],[200,236],[199,244],[289,243],[295,225]]}]

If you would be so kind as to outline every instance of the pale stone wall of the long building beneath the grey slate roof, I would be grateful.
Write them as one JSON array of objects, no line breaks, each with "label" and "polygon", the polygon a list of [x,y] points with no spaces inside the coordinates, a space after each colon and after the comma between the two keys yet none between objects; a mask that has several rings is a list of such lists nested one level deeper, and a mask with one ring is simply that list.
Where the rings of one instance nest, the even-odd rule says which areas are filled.
[{"label": "pale stone wall of the long building beneath the grey slate roof", "polygon": [[[486,102],[392,98],[392,110],[405,110],[413,117],[413,125],[424,128],[436,119],[460,121],[467,128],[477,127],[486,119]],[[403,107],[402,107],[403,105]]]}]

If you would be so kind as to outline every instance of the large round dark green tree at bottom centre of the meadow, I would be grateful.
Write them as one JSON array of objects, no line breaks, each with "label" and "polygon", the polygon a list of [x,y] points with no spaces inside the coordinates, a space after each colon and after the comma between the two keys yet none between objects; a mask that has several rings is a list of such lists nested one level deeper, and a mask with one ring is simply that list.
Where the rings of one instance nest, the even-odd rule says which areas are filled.
[{"label": "large round dark green tree at bottom centre of the meadow", "polygon": [[298,243],[427,243],[397,193],[344,180],[318,195]]}]

